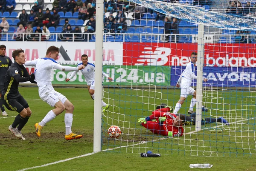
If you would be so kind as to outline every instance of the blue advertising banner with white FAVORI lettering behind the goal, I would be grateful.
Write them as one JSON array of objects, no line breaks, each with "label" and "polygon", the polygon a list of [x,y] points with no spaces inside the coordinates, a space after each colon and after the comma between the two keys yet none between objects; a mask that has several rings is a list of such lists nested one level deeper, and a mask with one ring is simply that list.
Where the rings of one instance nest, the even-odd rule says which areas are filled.
[{"label": "blue advertising banner with white FAVORI lettering behind the goal", "polygon": [[[172,86],[176,85],[180,74],[185,68],[186,66],[171,67]],[[197,67],[195,67],[195,69],[197,69]],[[256,86],[256,67],[204,67],[203,76],[208,79],[207,83],[203,82],[203,86],[207,87]],[[191,86],[196,86],[196,80],[193,80]]]}]

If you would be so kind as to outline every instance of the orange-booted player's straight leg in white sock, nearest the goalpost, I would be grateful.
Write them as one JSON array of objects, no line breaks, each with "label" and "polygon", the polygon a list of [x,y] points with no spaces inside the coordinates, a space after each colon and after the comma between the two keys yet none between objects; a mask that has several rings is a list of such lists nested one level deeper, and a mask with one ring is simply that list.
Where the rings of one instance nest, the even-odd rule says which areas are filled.
[{"label": "orange-booted player's straight leg in white sock, nearest the goalpost", "polygon": [[[71,130],[72,123],[73,123],[73,111],[74,111],[74,105],[67,100],[65,97],[64,106],[66,109],[65,117],[64,117],[64,122],[65,122],[65,127],[66,127],[66,134],[65,134],[65,139],[66,140],[72,140],[72,139],[80,139],[83,137],[82,135],[74,134]],[[63,101],[61,100],[61,101]]]}]

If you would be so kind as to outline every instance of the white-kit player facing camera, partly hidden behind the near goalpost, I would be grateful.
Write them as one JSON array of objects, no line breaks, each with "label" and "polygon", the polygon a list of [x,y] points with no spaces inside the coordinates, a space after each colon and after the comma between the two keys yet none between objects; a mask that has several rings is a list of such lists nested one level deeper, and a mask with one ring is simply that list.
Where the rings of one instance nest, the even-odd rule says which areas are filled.
[{"label": "white-kit player facing camera, partly hidden behind the near goalpost", "polygon": [[[90,93],[90,96],[94,100],[95,65],[93,65],[92,63],[88,63],[88,56],[86,54],[83,54],[81,56],[81,60],[82,60],[82,63],[79,63],[77,65],[77,67],[81,66],[81,65],[85,66],[85,68],[80,71],[83,74],[83,76],[87,82],[87,88]],[[66,82],[68,82],[71,78],[73,78],[77,72],[78,71],[73,71],[73,73],[70,75],[70,77],[66,79]],[[103,76],[107,77],[110,82],[113,81],[113,79],[111,77],[109,77],[105,72],[103,72]],[[108,104],[106,104],[103,100],[102,100],[102,109],[103,109],[103,112],[108,109]]]}]

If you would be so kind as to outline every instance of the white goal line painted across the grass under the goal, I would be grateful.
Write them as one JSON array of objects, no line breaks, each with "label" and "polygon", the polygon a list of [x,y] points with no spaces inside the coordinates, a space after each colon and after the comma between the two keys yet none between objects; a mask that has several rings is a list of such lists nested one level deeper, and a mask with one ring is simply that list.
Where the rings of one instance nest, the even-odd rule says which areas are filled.
[{"label": "white goal line painted across the grass under the goal", "polygon": [[[246,120],[252,120],[252,119],[255,119],[256,117],[253,117],[253,118],[250,118],[250,119],[245,119],[245,120],[239,120],[239,121],[236,121],[236,122],[233,122],[233,123],[240,123],[240,122],[243,122],[243,121],[246,121]],[[233,124],[233,123],[229,123],[229,124]],[[223,125],[218,125],[218,126],[214,126],[214,127],[210,127],[210,128],[218,128],[218,127],[221,127]],[[201,130],[204,130],[204,129],[209,129],[209,128],[203,128]],[[192,131],[192,132],[189,132],[189,133],[185,133],[185,134],[193,134],[197,131]],[[159,140],[164,140],[166,139],[166,137],[163,137],[163,138],[160,138],[160,139],[157,139],[157,140],[153,140],[153,141],[148,141],[148,142],[154,142],[154,141],[159,141]],[[148,143],[148,142],[140,142],[140,143],[137,143],[137,144],[132,144],[132,145],[126,145],[126,146],[120,146],[120,147],[116,147],[116,148],[124,148],[124,147],[129,147],[129,146],[135,146],[135,145],[140,145],[140,144],[145,144],[145,143]],[[102,150],[102,151],[110,151],[110,150],[114,150],[116,148],[111,148],[111,149],[105,149],[105,150]],[[86,157],[86,156],[90,156],[90,155],[93,155],[93,154],[96,154],[96,153],[99,153],[101,151],[97,151],[97,152],[92,152],[92,153],[87,153],[87,154],[83,154],[81,156],[76,156],[76,157],[72,157],[72,158],[68,158],[68,159],[64,159],[64,160],[59,160],[59,161],[56,161],[56,162],[51,162],[51,163],[47,163],[45,165],[38,165],[38,166],[34,166],[34,167],[31,167],[31,168],[23,168],[21,170],[18,170],[18,171],[26,171],[26,170],[29,170],[29,169],[33,169],[33,168],[41,168],[41,167],[45,167],[45,166],[48,166],[48,165],[54,165],[54,164],[58,164],[60,162],[67,162],[69,160],[73,160],[73,159],[77,159],[77,158],[81,158],[81,157]]]}]

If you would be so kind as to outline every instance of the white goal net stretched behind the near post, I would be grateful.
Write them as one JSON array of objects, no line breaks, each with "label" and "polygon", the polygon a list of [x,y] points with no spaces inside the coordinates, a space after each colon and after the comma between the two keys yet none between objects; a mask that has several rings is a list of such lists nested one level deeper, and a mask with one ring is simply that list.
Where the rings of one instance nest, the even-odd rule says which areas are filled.
[{"label": "white goal net stretched behind the near post", "polygon": [[[102,150],[221,157],[256,154],[255,9],[252,13],[253,4],[241,4],[239,11],[238,1],[236,12],[231,12],[233,4],[213,2],[105,3],[103,71],[113,82],[103,81],[103,101],[109,109],[102,112]],[[162,103],[175,108],[181,94],[176,84],[191,65],[192,52],[198,53],[195,75],[201,72],[208,79],[191,84],[197,95],[202,94],[204,107],[198,100],[192,105],[192,111],[198,111],[195,117],[202,118],[197,120],[201,130],[194,123],[183,125],[183,136],[153,134],[138,119],[150,116]],[[189,95],[177,113],[189,116],[191,101]],[[112,125],[122,131],[118,138],[108,135]]]}]

